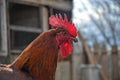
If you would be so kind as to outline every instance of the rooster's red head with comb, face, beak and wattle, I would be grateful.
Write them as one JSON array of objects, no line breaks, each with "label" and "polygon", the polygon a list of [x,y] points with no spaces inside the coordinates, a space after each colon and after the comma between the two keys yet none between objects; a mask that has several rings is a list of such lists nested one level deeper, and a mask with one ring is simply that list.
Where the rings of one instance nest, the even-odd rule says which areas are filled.
[{"label": "rooster's red head with comb, face, beak and wattle", "polygon": [[72,41],[77,42],[77,29],[72,21],[68,21],[67,15],[64,19],[61,14],[52,15],[49,24],[56,28],[56,41],[60,48],[62,57],[67,57],[72,51]]}]

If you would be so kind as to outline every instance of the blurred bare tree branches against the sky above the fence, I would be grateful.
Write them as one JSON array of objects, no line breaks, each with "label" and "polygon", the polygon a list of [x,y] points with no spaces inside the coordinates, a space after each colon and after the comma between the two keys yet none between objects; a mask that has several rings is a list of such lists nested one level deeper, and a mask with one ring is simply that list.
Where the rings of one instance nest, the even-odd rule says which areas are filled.
[{"label": "blurred bare tree branches against the sky above the fence", "polygon": [[[108,45],[117,45],[117,37],[120,35],[120,29],[117,27],[120,24],[120,1],[112,0],[89,0],[88,6],[84,1],[81,1],[83,10],[88,11],[88,16],[93,23],[93,26],[96,27],[101,35],[104,37],[104,43]],[[96,19],[94,14],[89,12],[89,9],[92,8],[92,11],[99,16]],[[90,32],[92,41],[96,43],[96,37],[99,35],[94,35],[95,33]]]}]

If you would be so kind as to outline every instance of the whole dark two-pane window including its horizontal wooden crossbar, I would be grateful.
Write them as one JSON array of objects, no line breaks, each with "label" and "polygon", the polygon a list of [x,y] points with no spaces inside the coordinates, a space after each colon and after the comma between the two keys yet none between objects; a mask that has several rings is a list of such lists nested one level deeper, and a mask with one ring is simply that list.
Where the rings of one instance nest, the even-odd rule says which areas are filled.
[{"label": "whole dark two-pane window including its horizontal wooden crossbar", "polygon": [[38,6],[9,3],[10,52],[20,53],[41,32]]}]

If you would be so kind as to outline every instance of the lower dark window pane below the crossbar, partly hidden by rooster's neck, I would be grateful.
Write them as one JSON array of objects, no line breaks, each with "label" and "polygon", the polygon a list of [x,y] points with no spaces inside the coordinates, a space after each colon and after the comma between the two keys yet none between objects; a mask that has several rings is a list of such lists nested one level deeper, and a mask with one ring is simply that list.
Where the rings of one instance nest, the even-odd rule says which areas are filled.
[{"label": "lower dark window pane below the crossbar, partly hidden by rooster's neck", "polygon": [[23,50],[39,35],[38,33],[12,30],[10,31],[10,33],[12,50]]}]

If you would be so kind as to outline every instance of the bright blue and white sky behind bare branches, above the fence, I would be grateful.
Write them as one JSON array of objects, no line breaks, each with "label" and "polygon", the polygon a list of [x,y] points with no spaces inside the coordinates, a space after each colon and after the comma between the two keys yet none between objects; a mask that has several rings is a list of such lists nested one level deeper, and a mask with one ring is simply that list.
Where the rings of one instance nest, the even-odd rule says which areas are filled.
[{"label": "bright blue and white sky behind bare branches, above the fence", "polygon": [[89,45],[120,45],[120,5],[116,1],[74,0],[73,3],[73,22]]}]

